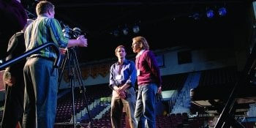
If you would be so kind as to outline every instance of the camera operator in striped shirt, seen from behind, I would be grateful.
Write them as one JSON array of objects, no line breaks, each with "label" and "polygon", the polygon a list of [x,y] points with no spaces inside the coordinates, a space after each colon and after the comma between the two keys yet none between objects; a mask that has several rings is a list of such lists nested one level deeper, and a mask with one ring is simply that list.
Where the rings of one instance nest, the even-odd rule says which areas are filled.
[{"label": "camera operator in striped shirt, seen from behind", "polygon": [[[54,42],[60,48],[74,46],[87,47],[84,35],[77,39],[64,37],[61,25],[54,18],[54,5],[49,1],[39,1],[36,7],[37,19],[25,31],[26,50]],[[58,69],[53,67],[56,53],[45,48],[32,54],[24,66],[25,110],[23,128],[53,128],[56,117]]]}]

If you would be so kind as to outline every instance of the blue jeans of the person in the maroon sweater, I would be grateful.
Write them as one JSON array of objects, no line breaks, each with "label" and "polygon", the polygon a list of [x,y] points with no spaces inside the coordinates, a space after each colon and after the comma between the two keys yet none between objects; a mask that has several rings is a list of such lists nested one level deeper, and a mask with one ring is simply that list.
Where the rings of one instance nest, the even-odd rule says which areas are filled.
[{"label": "blue jeans of the person in the maroon sweater", "polygon": [[157,84],[138,86],[138,96],[135,107],[135,119],[138,128],[156,127],[156,96]]}]

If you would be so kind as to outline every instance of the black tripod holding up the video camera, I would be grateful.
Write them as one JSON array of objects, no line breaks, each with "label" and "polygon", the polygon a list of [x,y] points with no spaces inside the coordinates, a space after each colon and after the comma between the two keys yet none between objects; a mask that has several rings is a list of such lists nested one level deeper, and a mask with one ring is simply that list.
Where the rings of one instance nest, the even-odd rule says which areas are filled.
[{"label": "black tripod holding up the video camera", "polygon": [[80,93],[83,93],[83,97],[84,97],[84,100],[85,100],[85,103],[86,103],[86,110],[88,112],[89,121],[90,121],[90,124],[91,124],[91,127],[92,127],[91,115],[89,113],[88,102],[87,102],[86,93],[85,93],[86,89],[83,86],[82,75],[81,75],[81,72],[80,72],[80,67],[79,67],[79,64],[78,64],[78,58],[77,58],[77,55],[76,55],[76,52],[75,52],[75,47],[67,48],[64,60],[62,61],[62,64],[61,64],[61,70],[60,70],[60,73],[59,73],[59,80],[58,80],[59,81],[59,86],[60,86],[60,83],[61,83],[61,79],[63,78],[63,75],[64,75],[64,68],[66,67],[66,64],[68,64],[67,68],[68,68],[69,86],[72,87],[72,110],[73,110],[72,111],[72,116],[73,116],[72,121],[73,121],[74,128],[76,126],[75,94],[74,94],[75,80],[76,79],[78,80],[78,83],[79,83],[79,86],[80,86]]}]

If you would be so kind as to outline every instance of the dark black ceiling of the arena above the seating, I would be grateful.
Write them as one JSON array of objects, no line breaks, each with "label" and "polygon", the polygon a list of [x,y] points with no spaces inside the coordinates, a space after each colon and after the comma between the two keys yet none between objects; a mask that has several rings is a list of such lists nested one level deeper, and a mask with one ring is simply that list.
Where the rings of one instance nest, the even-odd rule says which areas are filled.
[{"label": "dark black ceiling of the arena above the seating", "polygon": [[[88,38],[88,48],[78,49],[79,61],[113,58],[117,45],[132,53],[132,37],[146,37],[151,50],[185,45],[191,48],[230,47],[233,37],[244,26],[245,1],[182,1],[182,0],[49,0],[56,7],[55,18],[69,26],[78,27]],[[23,1],[34,14],[37,1]],[[227,8],[227,15],[206,18],[206,10]],[[198,20],[193,18],[197,13]],[[137,24],[140,31],[132,32]],[[113,35],[114,30],[127,26],[129,33]]]}]

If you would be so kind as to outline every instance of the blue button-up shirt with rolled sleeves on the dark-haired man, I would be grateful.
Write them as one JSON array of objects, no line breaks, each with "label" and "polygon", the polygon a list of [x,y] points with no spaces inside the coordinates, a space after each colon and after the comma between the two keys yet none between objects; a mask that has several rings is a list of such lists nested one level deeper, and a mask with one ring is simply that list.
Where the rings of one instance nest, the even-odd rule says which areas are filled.
[{"label": "blue button-up shirt with rolled sleeves on the dark-haired man", "polygon": [[[118,75],[120,77],[118,77]],[[129,84],[130,87],[135,87],[136,78],[137,73],[133,61],[125,59],[123,65],[116,62],[110,67],[109,86],[111,89],[113,89],[113,86],[122,86],[124,84]]]}]

